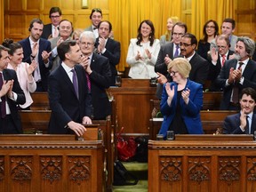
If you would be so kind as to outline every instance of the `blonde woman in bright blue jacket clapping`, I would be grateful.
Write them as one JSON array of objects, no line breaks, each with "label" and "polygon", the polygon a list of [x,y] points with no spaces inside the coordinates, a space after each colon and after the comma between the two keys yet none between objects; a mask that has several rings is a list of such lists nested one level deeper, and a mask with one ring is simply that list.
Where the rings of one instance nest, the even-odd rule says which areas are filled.
[{"label": "blonde woman in bright blue jacket clapping", "polygon": [[176,58],[168,65],[172,83],[164,84],[160,103],[164,122],[159,134],[203,134],[200,110],[203,107],[203,85],[188,79],[188,60]]}]

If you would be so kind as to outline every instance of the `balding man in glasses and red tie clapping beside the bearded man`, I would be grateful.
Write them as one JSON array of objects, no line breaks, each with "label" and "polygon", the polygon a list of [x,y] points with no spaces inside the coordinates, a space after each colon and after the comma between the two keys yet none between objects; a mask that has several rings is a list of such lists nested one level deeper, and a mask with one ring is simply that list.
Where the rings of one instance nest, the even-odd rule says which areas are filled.
[{"label": "balding man in glasses and red tie clapping beside the bearded man", "polygon": [[220,69],[225,65],[226,60],[234,58],[234,52],[229,50],[230,42],[226,35],[220,35],[216,38],[216,48],[211,51],[211,64],[208,80],[211,81],[209,88],[210,92],[220,92],[222,89],[215,84],[217,76],[220,74]]}]

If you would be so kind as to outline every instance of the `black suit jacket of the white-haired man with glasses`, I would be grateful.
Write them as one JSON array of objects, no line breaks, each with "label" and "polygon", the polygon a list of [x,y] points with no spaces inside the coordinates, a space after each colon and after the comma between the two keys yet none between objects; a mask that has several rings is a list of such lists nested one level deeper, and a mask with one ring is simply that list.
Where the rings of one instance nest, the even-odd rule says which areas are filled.
[{"label": "black suit jacket of the white-haired man with glasses", "polygon": [[93,53],[90,74],[94,119],[106,119],[111,114],[111,105],[105,89],[110,86],[111,70],[108,58]]}]

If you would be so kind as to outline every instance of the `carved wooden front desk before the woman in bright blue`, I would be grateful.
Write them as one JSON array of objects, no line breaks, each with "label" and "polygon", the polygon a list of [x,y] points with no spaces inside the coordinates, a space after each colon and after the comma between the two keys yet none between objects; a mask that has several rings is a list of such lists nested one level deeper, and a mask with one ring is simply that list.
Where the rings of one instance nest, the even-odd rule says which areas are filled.
[{"label": "carved wooden front desk before the woman in bright blue", "polygon": [[252,135],[148,142],[148,192],[256,191],[255,172]]}]

